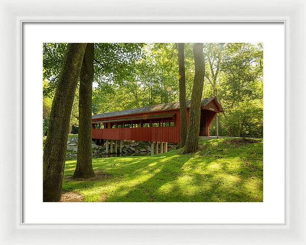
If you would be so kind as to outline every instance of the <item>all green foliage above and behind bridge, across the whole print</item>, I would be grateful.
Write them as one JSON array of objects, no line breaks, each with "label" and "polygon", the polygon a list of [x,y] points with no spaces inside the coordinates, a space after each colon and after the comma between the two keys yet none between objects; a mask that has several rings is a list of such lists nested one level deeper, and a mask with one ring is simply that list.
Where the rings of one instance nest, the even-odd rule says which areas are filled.
[{"label": "all green foliage above and behind bridge, across the whole print", "polygon": [[[179,67],[175,43],[95,43],[92,113],[139,108],[179,101]],[[44,97],[53,96],[65,43],[43,44]],[[186,99],[194,79],[192,43],[185,43]],[[205,43],[202,97],[215,96],[219,135],[263,137],[263,46],[261,43]],[[244,106],[254,106],[248,110]],[[76,107],[73,107],[76,109]],[[78,112],[71,114],[77,126]],[[249,114],[248,114],[249,115]],[[215,134],[215,122],[211,127]]]}]

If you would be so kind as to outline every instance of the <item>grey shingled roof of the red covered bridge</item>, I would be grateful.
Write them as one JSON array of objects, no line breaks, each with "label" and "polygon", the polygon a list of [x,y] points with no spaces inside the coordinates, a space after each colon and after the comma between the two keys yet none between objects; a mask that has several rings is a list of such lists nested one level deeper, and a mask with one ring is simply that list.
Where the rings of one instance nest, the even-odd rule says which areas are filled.
[{"label": "grey shingled roof of the red covered bridge", "polygon": [[[207,105],[209,102],[211,102],[214,99],[215,99],[214,97],[203,98],[201,101],[201,106]],[[186,101],[186,106],[190,107],[190,101]],[[160,105],[154,105],[154,106],[146,106],[146,107],[122,110],[122,111],[106,112],[106,113],[93,115],[92,119],[139,114],[139,113],[145,113],[145,112],[166,111],[166,110],[173,110],[173,109],[180,109],[180,102],[160,104]]]}]

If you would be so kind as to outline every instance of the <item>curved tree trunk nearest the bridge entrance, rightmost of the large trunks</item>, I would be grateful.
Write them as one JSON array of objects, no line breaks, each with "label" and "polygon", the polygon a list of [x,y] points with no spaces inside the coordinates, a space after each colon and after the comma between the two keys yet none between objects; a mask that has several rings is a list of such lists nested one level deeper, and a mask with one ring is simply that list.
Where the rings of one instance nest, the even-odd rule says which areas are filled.
[{"label": "curved tree trunk nearest the bridge entrance, rightmost of the large trunks", "polygon": [[184,153],[194,152],[198,149],[198,137],[200,132],[201,98],[205,77],[205,61],[203,55],[203,43],[195,43],[194,56],[194,80],[189,110],[189,126]]}]

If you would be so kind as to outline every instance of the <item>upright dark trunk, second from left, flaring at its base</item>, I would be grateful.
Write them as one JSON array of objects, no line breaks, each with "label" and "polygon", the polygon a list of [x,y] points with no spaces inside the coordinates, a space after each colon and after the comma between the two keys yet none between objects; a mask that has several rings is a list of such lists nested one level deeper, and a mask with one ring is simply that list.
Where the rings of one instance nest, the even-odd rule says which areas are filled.
[{"label": "upright dark trunk, second from left, flaring at its base", "polygon": [[93,54],[93,43],[88,43],[80,74],[78,159],[73,178],[90,178],[94,176],[91,159]]}]

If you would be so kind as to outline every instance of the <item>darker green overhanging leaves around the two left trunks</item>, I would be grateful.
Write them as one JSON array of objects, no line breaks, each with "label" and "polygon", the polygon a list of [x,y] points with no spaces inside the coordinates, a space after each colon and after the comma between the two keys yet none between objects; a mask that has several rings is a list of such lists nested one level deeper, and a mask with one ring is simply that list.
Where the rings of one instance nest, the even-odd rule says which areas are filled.
[{"label": "darker green overhanging leaves around the two left trunks", "polygon": [[[129,89],[124,82],[135,69],[135,61],[142,56],[142,43],[95,43],[94,48],[94,86],[92,96],[93,113],[112,109],[110,96],[114,97],[116,85],[120,84]],[[43,88],[43,97],[53,98],[57,78],[66,51],[66,43],[43,43],[43,79],[48,80]],[[71,111],[70,125],[78,126],[78,96],[75,93]],[[129,95],[129,94],[127,94]],[[122,98],[116,97],[118,101]],[[125,99],[125,98],[123,98]],[[119,104],[121,104],[120,101]]]}]

